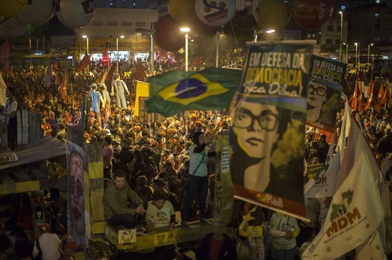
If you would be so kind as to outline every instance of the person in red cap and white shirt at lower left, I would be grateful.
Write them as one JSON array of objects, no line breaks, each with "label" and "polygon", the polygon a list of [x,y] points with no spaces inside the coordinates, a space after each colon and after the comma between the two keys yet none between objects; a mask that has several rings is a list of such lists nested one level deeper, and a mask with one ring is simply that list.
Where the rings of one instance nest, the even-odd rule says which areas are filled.
[{"label": "person in red cap and white shirt at lower left", "polygon": [[58,260],[61,240],[57,234],[50,233],[47,223],[38,224],[38,229],[40,236],[34,242],[33,258],[41,256],[42,260]]}]

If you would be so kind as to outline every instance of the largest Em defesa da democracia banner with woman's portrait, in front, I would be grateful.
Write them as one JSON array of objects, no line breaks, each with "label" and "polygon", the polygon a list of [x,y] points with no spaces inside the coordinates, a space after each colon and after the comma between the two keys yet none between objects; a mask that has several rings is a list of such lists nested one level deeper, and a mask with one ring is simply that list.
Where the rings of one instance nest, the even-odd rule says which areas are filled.
[{"label": "largest Em defesa da democracia banner with woman's portrait, in front", "polygon": [[313,42],[249,46],[229,131],[235,197],[307,220],[303,156]]}]

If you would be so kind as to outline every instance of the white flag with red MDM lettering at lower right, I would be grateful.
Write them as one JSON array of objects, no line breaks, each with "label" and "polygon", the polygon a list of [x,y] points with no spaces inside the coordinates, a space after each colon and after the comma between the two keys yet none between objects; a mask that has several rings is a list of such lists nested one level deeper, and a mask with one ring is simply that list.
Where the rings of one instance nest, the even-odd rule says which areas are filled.
[{"label": "white flag with red MDM lettering at lower right", "polygon": [[363,244],[384,217],[380,194],[365,153],[333,196],[321,231],[302,255],[304,260],[330,260]]}]

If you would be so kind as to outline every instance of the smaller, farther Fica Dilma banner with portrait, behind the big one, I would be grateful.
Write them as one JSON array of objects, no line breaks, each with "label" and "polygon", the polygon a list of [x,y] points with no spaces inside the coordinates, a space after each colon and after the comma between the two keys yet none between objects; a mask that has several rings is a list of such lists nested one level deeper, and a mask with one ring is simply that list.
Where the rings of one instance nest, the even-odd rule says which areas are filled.
[{"label": "smaller, farther Fica Dilma banner with portrait, behind the big one", "polygon": [[333,133],[347,64],[312,55],[306,123]]}]

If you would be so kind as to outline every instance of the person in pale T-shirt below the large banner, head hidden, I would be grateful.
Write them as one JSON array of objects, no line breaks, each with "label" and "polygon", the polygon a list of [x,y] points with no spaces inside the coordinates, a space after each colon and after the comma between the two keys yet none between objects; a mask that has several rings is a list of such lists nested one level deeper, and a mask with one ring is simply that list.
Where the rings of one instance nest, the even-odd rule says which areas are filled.
[{"label": "person in pale T-shirt below the large banner, head hidden", "polygon": [[294,260],[296,253],[296,237],[300,233],[297,219],[276,212],[271,217],[272,252],[276,260]]}]

